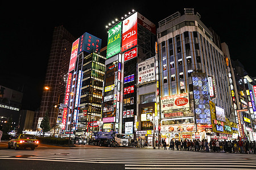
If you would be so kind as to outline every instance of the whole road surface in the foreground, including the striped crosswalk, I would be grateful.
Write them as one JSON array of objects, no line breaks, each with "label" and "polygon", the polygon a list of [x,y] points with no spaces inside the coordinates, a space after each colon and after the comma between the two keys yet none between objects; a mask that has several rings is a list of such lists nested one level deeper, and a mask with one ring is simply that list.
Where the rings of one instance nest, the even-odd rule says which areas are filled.
[{"label": "whole road surface in the foreground, including the striped crosswalk", "polygon": [[256,155],[86,145],[2,149],[0,169],[256,169]]}]

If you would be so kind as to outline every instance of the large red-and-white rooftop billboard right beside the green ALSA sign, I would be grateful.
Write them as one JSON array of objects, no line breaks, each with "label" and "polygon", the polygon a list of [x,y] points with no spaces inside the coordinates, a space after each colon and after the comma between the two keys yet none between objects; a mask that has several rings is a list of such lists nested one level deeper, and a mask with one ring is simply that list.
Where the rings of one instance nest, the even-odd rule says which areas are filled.
[{"label": "large red-and-white rooftop billboard right beside the green ALSA sign", "polygon": [[137,45],[137,12],[123,20],[122,52]]}]

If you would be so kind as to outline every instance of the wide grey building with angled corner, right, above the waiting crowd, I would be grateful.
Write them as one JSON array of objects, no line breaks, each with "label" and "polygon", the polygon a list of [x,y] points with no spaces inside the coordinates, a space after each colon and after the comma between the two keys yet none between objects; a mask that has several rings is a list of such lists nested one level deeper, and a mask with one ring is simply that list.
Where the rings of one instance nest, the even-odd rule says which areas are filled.
[{"label": "wide grey building with angled corner, right, above the waiting crowd", "polygon": [[185,8],[159,22],[158,44],[162,137],[238,134],[220,37]]}]

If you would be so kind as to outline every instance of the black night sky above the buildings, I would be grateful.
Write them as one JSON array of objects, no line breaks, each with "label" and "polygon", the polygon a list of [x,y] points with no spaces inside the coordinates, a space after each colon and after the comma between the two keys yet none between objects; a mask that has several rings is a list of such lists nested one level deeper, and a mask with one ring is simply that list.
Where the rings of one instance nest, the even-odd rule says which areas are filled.
[{"label": "black night sky above the buildings", "polygon": [[132,9],[158,26],[160,20],[177,11],[183,15],[184,8],[194,8],[201,21],[229,45],[232,59],[239,59],[249,75],[256,76],[253,1],[60,2],[67,5],[45,1],[38,5],[0,4],[0,85],[23,90],[23,109],[40,107],[54,27],[63,25],[76,38],[88,32],[102,39],[104,47],[108,36],[105,25],[115,18],[121,19]]}]

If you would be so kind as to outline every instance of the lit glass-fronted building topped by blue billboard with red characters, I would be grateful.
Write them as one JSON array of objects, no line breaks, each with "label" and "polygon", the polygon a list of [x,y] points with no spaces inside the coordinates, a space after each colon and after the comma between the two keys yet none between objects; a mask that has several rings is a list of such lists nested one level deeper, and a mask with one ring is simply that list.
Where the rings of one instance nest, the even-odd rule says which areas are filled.
[{"label": "lit glass-fronted building topped by blue billboard with red characters", "polygon": [[[73,42],[62,117],[65,134],[89,137],[98,131],[106,57],[100,54],[101,39],[85,32]],[[73,94],[73,95],[70,95]]]}]

